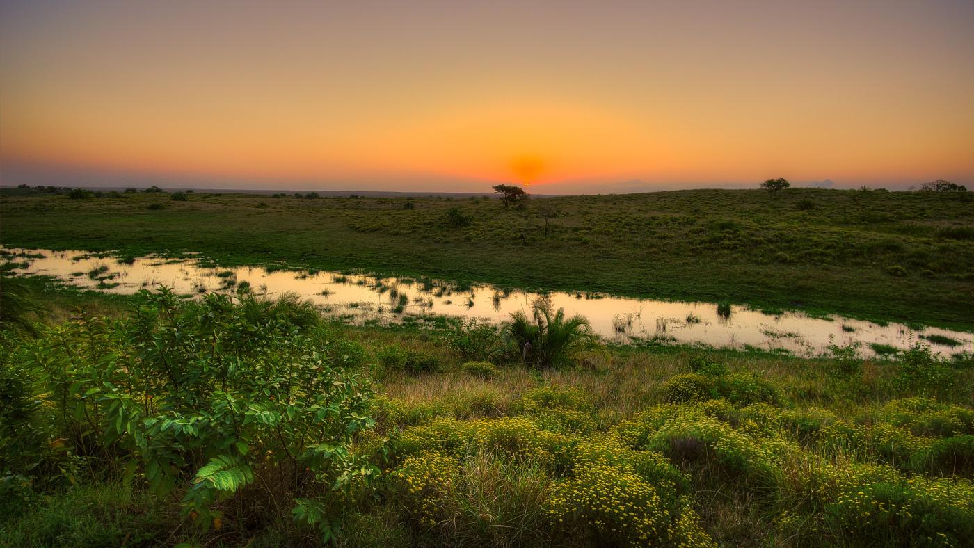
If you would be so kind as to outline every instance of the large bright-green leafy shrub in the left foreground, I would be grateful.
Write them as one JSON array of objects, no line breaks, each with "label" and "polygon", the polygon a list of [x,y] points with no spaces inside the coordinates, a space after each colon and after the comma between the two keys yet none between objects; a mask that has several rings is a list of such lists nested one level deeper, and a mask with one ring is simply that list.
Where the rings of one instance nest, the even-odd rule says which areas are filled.
[{"label": "large bright-green leafy shrub in the left foreground", "polygon": [[[182,302],[165,288],[135,299],[126,318],[82,315],[19,353],[36,397],[60,418],[63,454],[77,456],[57,475],[138,472],[155,493],[181,494],[183,515],[204,529],[219,527],[217,504],[244,489],[277,500],[318,493],[295,515],[330,535],[333,490],[377,472],[351,451],[373,425],[369,385],[320,351],[290,305],[253,314],[226,295]],[[261,473],[281,481],[253,487]]]}]

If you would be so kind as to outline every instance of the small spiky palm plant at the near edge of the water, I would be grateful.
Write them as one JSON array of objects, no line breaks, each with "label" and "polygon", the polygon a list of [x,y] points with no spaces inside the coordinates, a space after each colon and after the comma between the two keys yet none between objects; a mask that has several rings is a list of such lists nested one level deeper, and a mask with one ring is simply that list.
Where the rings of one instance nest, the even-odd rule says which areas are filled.
[{"label": "small spiky palm plant at the near edge of the water", "polygon": [[599,347],[588,319],[580,314],[565,317],[565,310],[551,311],[545,301],[532,306],[532,318],[524,311],[510,314],[504,325],[507,345],[527,365],[561,367],[578,353]]}]

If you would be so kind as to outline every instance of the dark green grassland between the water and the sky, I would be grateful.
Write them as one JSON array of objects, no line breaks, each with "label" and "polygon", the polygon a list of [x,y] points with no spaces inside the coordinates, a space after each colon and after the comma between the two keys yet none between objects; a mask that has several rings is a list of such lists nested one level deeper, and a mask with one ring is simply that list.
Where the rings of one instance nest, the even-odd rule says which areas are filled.
[{"label": "dark green grassland between the water and the sky", "polygon": [[[529,290],[731,301],[974,329],[974,194],[791,189],[529,201],[3,191],[8,246],[202,252]],[[150,206],[157,207],[150,209]],[[539,210],[558,210],[544,237]],[[451,227],[460,208],[466,226]]]}]

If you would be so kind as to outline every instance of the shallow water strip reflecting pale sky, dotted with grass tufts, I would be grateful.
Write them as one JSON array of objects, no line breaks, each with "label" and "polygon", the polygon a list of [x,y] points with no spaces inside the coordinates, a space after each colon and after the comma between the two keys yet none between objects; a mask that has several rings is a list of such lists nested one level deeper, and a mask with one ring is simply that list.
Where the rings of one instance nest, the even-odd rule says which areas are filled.
[{"label": "shallow water strip reflecting pale sky, dotted with grass tufts", "polygon": [[[268,272],[260,267],[217,268],[203,258],[169,259],[147,256],[131,264],[85,251],[7,249],[15,262],[27,262],[16,272],[55,276],[72,285],[109,293],[134,293],[166,285],[177,293],[236,291],[243,282],[268,295],[294,292],[310,299],[326,313],[355,322],[396,322],[431,314],[478,317],[500,322],[514,311],[528,311],[541,296],[524,291],[503,291],[490,285],[458,288],[435,280],[379,278],[331,272]],[[100,272],[95,272],[100,271]],[[91,274],[90,274],[91,273]],[[552,292],[544,296],[567,314],[586,316],[592,328],[613,342],[703,344],[711,347],[758,347],[787,350],[797,355],[818,355],[832,342],[859,343],[864,356],[875,355],[871,344],[896,348],[912,346],[920,336],[941,335],[959,343],[951,347],[931,344],[945,355],[974,349],[974,334],[933,327],[918,331],[902,324],[879,325],[869,321],[810,317],[801,312],[768,315],[732,306],[723,317],[713,303],[685,303],[631,299],[608,295]],[[831,340],[830,340],[831,338]]]}]

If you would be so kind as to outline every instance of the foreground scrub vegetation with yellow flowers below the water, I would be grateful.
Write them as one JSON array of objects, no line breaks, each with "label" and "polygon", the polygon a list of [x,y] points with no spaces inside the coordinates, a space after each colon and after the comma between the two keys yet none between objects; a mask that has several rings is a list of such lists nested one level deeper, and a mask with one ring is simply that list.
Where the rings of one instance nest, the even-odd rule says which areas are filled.
[{"label": "foreground scrub vegetation with yellow flowers below the water", "polygon": [[2,281],[7,544],[974,538],[969,353],[606,347],[543,303],[418,329]]}]

